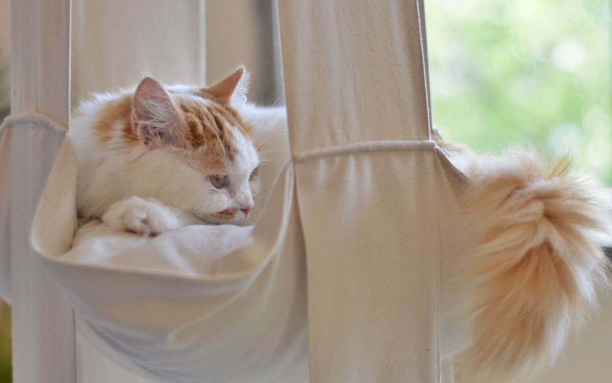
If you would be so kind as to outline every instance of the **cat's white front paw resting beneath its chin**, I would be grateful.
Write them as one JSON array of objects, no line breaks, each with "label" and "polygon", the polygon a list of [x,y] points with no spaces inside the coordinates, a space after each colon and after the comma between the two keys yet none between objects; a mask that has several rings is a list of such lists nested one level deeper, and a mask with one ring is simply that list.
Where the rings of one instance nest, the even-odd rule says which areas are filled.
[{"label": "cat's white front paw resting beneath its chin", "polygon": [[102,221],[111,229],[144,235],[158,235],[181,227],[170,207],[155,199],[136,196],[113,203]]}]

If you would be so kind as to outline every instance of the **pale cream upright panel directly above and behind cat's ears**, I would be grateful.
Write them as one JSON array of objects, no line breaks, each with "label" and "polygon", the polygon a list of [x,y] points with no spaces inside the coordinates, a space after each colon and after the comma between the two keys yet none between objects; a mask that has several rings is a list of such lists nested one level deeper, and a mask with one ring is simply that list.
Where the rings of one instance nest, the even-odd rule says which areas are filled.
[{"label": "pale cream upright panel directly above and behind cat's ears", "polygon": [[203,11],[203,0],[73,0],[72,104],[145,75],[204,82]]}]

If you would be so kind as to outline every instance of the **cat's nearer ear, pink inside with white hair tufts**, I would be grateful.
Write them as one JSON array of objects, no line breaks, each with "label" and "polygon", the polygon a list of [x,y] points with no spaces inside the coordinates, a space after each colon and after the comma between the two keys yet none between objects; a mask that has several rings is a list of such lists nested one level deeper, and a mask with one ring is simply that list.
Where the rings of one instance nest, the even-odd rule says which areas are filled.
[{"label": "cat's nearer ear, pink inside with white hair tufts", "polygon": [[132,126],[145,145],[159,147],[179,143],[184,121],[166,89],[145,77],[134,93]]}]

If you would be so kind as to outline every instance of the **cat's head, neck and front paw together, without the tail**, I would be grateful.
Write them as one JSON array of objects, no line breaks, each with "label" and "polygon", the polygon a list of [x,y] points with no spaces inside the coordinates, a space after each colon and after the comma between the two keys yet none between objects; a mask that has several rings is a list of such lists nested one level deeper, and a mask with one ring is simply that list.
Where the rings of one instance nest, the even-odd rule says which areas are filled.
[{"label": "cat's head, neck and front paw together, without the tail", "polygon": [[242,224],[259,189],[260,155],[242,118],[248,73],[217,84],[97,94],[71,119],[81,218],[158,235],[187,224]]}]

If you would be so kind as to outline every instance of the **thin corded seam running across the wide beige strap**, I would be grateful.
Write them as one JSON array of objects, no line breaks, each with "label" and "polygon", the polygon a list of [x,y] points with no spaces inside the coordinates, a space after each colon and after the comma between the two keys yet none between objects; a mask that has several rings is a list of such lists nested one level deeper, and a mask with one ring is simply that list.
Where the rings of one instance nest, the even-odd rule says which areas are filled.
[{"label": "thin corded seam running across the wide beige strap", "polygon": [[355,142],[346,145],[328,146],[327,148],[319,148],[309,150],[304,153],[298,153],[293,156],[296,162],[308,161],[310,159],[337,156],[347,153],[362,153],[368,151],[385,151],[385,150],[434,150],[436,142],[433,140],[421,141],[370,141],[370,142]]}]

